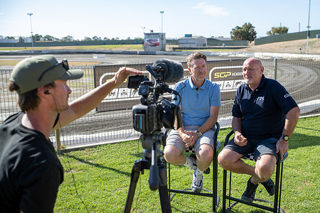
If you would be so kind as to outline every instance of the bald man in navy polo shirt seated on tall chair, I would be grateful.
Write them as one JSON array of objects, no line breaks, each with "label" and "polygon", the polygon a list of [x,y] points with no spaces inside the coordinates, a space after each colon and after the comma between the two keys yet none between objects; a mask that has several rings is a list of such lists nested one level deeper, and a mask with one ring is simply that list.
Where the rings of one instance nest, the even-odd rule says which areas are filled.
[{"label": "bald man in navy polo shirt seated on tall chair", "polygon": [[[264,67],[257,58],[243,63],[245,84],[235,93],[233,103],[233,131],[235,137],[218,155],[218,163],[233,173],[250,175],[241,199],[252,202],[260,182],[269,195],[274,195],[270,179],[278,154],[283,158],[288,140],[297,125],[300,109],[279,82],[263,75]],[[255,153],[255,167],[240,158]]]}]

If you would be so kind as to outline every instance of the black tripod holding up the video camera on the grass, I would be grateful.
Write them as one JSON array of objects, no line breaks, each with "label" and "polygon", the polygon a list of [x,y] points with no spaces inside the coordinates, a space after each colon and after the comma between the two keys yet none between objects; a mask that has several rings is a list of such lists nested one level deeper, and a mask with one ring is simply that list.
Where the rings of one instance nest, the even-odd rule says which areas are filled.
[{"label": "black tripod holding up the video camera on the grass", "polygon": [[127,195],[124,213],[129,213],[132,207],[134,192],[137,187],[140,172],[144,174],[144,170],[150,170],[149,187],[151,190],[159,190],[160,203],[162,212],[171,213],[171,205],[169,200],[168,187],[166,185],[166,165],[160,158],[161,141],[165,141],[163,133],[142,134],[142,147],[144,150],[144,158],[135,160],[132,167],[131,182]]}]

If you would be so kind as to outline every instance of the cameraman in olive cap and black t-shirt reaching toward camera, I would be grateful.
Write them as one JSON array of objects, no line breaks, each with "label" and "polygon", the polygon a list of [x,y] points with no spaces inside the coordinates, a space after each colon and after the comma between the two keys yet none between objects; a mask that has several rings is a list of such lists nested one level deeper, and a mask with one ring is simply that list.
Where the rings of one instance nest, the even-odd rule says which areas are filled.
[{"label": "cameraman in olive cap and black t-shirt reaching toward camera", "polygon": [[20,112],[0,126],[0,212],[53,212],[63,166],[50,142],[50,131],[95,109],[130,73],[121,67],[114,77],[68,104],[67,80],[82,77],[68,61],[52,55],[26,58],[11,73],[9,90],[19,95]]}]

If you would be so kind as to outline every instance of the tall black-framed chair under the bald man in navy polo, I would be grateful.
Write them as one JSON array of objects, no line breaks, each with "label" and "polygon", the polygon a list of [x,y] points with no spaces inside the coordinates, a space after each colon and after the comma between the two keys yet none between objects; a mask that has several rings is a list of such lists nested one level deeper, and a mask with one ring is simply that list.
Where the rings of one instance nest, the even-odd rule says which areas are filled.
[{"label": "tall black-framed chair under the bald man in navy polo", "polygon": [[[227,145],[227,143],[229,142],[230,136],[232,136],[232,135],[233,135],[233,131],[230,131],[230,133],[228,133],[228,135],[225,138],[224,146]],[[265,206],[262,204],[257,204],[256,202],[245,202],[245,201],[242,201],[236,197],[232,197],[231,196],[231,182],[232,182],[231,181],[231,172],[229,175],[229,193],[227,195],[227,170],[223,170],[223,212],[230,210],[233,206],[235,206],[235,204],[238,204],[239,202],[242,204],[250,205],[252,207],[257,207],[259,209],[265,209],[270,212],[277,212],[277,211],[283,212],[283,210],[280,208],[281,190],[282,190],[282,171],[283,171],[283,161],[287,158],[287,156],[288,156],[288,153],[285,153],[282,160],[281,160],[280,156],[277,160],[276,178],[275,178],[275,183],[274,183],[275,184],[274,201],[270,202],[268,200],[262,200],[262,199],[255,199],[254,200],[254,201],[259,201],[259,202],[270,203],[273,205],[273,207]],[[255,161],[253,153],[249,153],[246,156],[243,156],[242,159]],[[281,169],[280,169],[280,165],[281,165]],[[229,206],[227,209],[225,209],[226,200],[229,200]],[[231,200],[234,201],[232,204],[230,204]]]}]

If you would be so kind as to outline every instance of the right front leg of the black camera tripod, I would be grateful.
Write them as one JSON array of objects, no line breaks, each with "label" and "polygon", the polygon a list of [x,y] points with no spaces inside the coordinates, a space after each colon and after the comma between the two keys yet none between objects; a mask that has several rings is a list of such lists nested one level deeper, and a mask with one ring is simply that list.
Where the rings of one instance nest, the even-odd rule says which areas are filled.
[{"label": "right front leg of the black camera tripod", "polygon": [[166,166],[164,165],[164,163],[161,163],[161,166],[159,166],[159,176],[160,176],[159,195],[160,195],[161,209],[162,209],[162,212],[171,213],[169,192],[168,192],[168,187],[166,185]]}]

